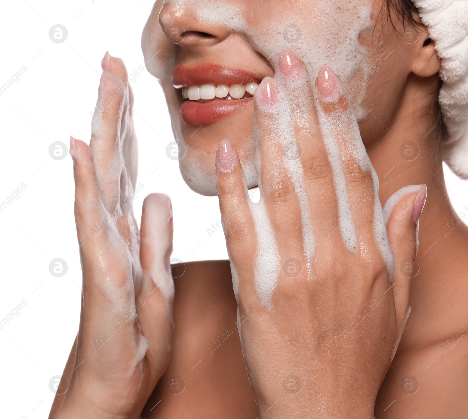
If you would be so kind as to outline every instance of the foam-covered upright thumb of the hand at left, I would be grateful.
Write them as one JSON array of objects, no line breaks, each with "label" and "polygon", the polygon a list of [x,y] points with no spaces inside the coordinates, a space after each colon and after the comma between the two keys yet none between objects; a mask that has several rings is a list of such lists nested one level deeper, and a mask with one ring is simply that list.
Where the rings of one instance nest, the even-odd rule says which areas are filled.
[{"label": "foam-covered upright thumb of the hand at left", "polygon": [[170,267],[173,231],[172,205],[168,195],[146,196],[141,214],[141,267],[153,280],[150,292],[159,289],[170,303],[174,297]]}]

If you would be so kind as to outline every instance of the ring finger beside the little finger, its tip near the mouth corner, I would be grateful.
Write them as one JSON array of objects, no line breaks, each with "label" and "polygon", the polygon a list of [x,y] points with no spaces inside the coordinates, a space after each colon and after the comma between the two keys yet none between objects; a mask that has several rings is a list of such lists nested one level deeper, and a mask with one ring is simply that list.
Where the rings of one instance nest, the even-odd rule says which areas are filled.
[{"label": "ring finger beside the little finger, its tip near the mouth corner", "polygon": [[[294,135],[288,130],[290,117],[279,104],[280,98],[285,96],[286,92],[279,90],[275,80],[269,77],[263,79],[254,95],[260,193],[276,237],[281,264],[289,259],[303,259],[303,229],[313,240],[307,196],[300,191],[305,198],[301,208],[297,195],[301,181],[300,160],[284,155],[285,144],[294,141],[291,139]],[[283,115],[278,116],[280,113]]]}]

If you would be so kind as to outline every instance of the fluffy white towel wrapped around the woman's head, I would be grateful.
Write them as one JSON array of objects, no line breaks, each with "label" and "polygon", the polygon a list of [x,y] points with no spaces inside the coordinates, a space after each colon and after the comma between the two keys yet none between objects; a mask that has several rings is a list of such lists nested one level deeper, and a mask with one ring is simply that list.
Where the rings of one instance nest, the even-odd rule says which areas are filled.
[{"label": "fluffy white towel wrapped around the woman's head", "polygon": [[468,0],[413,0],[442,61],[439,104],[448,131],[444,160],[468,179]]}]

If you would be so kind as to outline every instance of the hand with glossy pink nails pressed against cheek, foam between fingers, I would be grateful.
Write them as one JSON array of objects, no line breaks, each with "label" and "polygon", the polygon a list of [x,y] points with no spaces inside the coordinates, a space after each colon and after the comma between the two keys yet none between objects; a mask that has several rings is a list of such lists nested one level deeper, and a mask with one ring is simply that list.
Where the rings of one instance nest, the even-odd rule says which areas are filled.
[{"label": "hand with glossy pink nails pressed against cheek, foam between fingers", "polygon": [[426,188],[394,200],[386,229],[377,175],[329,67],[314,89],[304,63],[285,51],[254,103],[260,202],[250,202],[227,140],[216,168],[259,412],[373,418],[409,312],[410,280],[399,267],[416,256]]}]

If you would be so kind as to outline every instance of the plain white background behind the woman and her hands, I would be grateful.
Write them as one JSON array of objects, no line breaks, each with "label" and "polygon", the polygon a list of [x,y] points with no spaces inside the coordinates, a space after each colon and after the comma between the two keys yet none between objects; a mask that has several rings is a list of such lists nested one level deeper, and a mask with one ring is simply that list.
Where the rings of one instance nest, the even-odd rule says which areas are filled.
[{"label": "plain white background behind the woman and her hands", "polygon": [[[73,220],[72,159],[50,157],[55,141],[70,135],[88,141],[106,50],[124,59],[129,72],[144,66],[140,36],[150,0],[16,0],[2,2],[0,86],[22,65],[27,71],[0,96],[0,202],[22,182],[19,199],[0,213],[0,319],[27,304],[0,330],[0,416],[46,418],[53,392],[51,377],[61,375],[75,338],[80,311],[81,269]],[[53,43],[49,29],[64,25],[68,37]],[[207,229],[219,218],[217,197],[203,197],[183,182],[178,162],[168,159],[174,141],[164,97],[146,70],[132,83],[139,137],[137,219],[151,192],[171,196],[174,258],[227,259],[222,231]],[[453,205],[468,206],[468,187],[446,170]],[[66,260],[56,278],[51,260]]]}]

